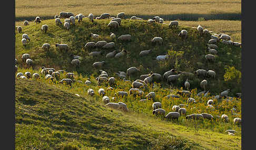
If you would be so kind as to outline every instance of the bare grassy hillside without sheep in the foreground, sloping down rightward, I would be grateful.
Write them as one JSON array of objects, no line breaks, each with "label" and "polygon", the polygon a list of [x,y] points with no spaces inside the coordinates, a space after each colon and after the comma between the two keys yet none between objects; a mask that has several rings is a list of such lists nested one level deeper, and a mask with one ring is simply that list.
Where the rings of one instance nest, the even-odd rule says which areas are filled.
[{"label": "bare grassy hillside without sheep in the foreground, sloping down rightward", "polygon": [[89,98],[84,85],[49,84],[15,80],[16,149],[241,149],[240,131],[235,136],[202,129],[195,133],[158,117],[104,108],[100,95]]}]

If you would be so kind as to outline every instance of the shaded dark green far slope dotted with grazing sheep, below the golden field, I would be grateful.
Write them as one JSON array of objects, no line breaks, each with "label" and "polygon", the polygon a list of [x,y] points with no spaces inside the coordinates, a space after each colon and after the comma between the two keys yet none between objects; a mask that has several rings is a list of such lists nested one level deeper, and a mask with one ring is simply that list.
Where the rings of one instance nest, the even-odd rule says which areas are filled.
[{"label": "shaded dark green far slope dotted with grazing sheep, below the golden field", "polygon": [[[64,19],[62,19],[64,22]],[[216,72],[215,79],[209,79],[209,89],[212,94],[219,94],[226,89],[231,90],[231,96],[235,93],[241,92],[240,83],[230,81],[224,82],[225,68],[235,67],[241,70],[241,48],[235,46],[228,46],[217,44],[219,46],[218,55],[216,55],[214,62],[208,62],[204,58],[209,54],[206,44],[210,39],[210,35],[199,37],[196,29],[179,26],[178,29],[169,29],[168,25],[154,24],[148,25],[145,20],[122,20],[121,26],[117,30],[107,28],[110,20],[95,20],[94,23],[84,19],[81,24],[76,22],[70,30],[64,30],[63,26],[56,26],[54,19],[43,20],[42,24],[31,24],[23,26],[23,33],[26,33],[31,38],[31,41],[26,48],[22,46],[22,34],[16,33],[15,54],[19,62],[23,53],[29,53],[35,62],[35,69],[45,67],[54,67],[56,69],[65,69],[69,72],[77,71],[83,75],[96,76],[99,69],[93,68],[92,64],[96,61],[105,60],[106,65],[101,68],[113,74],[117,71],[126,71],[127,68],[135,66],[140,69],[140,74],[147,74],[150,71],[163,74],[164,72],[175,68],[178,71],[193,72],[197,69],[214,70]],[[43,24],[49,26],[46,34],[40,30]],[[188,30],[189,37],[182,40],[178,37],[180,30]],[[117,37],[123,34],[130,34],[132,36],[131,42],[120,42],[117,39],[110,39],[110,32],[116,34]],[[100,38],[92,39],[90,33],[99,34]],[[164,41],[163,46],[152,45],[153,37],[162,37]],[[106,40],[107,42],[114,41],[115,48],[109,50],[102,49],[84,49],[84,45],[90,41]],[[50,51],[41,49],[44,43],[51,44]],[[55,44],[68,44],[70,50],[68,52],[61,52],[56,50]],[[142,50],[152,49],[152,53],[148,56],[139,57]],[[105,55],[113,50],[128,51],[127,56],[119,59],[106,59]],[[100,57],[89,57],[88,53],[91,51],[102,51],[103,55]],[[69,55],[82,56],[80,68],[73,67],[70,62]],[[157,62],[156,56],[169,54],[170,58],[165,62]],[[25,63],[20,63],[19,67],[26,67]],[[132,77],[137,79],[139,76]],[[203,78],[191,79],[191,88],[200,89],[200,82]],[[175,87],[183,87],[185,79],[181,78]],[[164,82],[161,82],[162,87],[168,87]],[[235,85],[235,86],[234,86]]]}]

